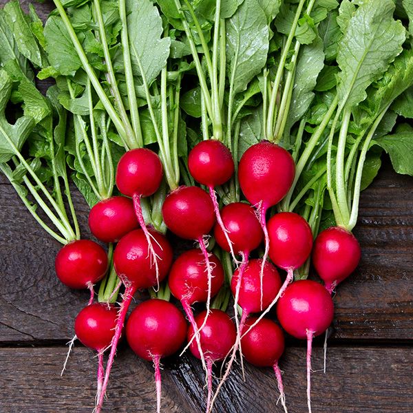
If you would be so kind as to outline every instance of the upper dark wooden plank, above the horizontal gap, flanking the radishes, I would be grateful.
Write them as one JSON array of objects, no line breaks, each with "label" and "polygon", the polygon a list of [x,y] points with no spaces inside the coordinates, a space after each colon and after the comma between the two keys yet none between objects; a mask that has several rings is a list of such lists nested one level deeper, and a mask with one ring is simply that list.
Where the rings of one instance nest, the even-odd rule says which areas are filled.
[{"label": "upper dark wooden plank, above the horizontal gap, flanking the radishes", "polygon": [[[4,182],[4,181],[1,181]],[[83,234],[88,207],[75,196]],[[413,339],[413,179],[386,165],[363,192],[363,258],[337,289],[332,339]],[[59,243],[45,236],[8,184],[0,184],[0,342],[67,340],[87,293],[54,275]]]}]

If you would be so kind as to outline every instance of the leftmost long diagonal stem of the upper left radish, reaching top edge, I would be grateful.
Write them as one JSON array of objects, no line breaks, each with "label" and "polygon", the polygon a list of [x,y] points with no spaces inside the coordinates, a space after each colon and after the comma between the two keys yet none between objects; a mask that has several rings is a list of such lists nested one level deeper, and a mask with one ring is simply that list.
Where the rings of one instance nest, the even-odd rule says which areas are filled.
[{"label": "leftmost long diagonal stem of the upper left radish, reaching top edge", "polygon": [[112,119],[112,122],[114,123],[118,131],[118,134],[120,135],[120,138],[123,140],[123,144],[125,145],[125,147],[128,148],[132,142],[129,142],[125,128],[123,127],[122,120],[120,120],[118,114],[116,114],[116,110],[114,109],[112,103],[110,102],[105,91],[103,90],[103,87],[100,85],[100,81],[98,77],[96,76],[96,73],[94,72],[92,65],[90,65],[89,60],[87,59],[85,51],[83,50],[83,47],[78,37],[76,36],[76,33],[74,32],[72,23],[70,23],[70,20],[67,17],[67,14],[65,12],[65,9],[63,8],[61,0],[53,0],[53,1],[54,1],[54,4],[57,10],[59,11],[59,14],[61,15],[63,23],[65,24],[67,33],[69,34],[70,39],[72,40],[72,43],[74,45],[74,48],[76,49],[78,57],[81,60],[83,69],[85,70],[87,76],[89,76],[90,81],[92,82],[92,85],[94,89],[96,90],[96,93],[98,94],[100,100],[102,101],[103,106],[105,107],[107,111],[107,114],[109,114],[110,118]]}]

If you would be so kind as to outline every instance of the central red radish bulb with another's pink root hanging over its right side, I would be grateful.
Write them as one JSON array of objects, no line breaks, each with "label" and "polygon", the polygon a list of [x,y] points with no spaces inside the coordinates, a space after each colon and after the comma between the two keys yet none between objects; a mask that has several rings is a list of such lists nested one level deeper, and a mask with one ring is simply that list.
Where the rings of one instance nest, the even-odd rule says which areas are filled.
[{"label": "central red radish bulb with another's pink root hanging over its right side", "polygon": [[[224,284],[224,268],[218,257],[211,254],[212,265],[211,297],[216,295]],[[169,271],[169,288],[173,297],[191,305],[206,302],[208,298],[208,275],[205,271],[204,255],[199,249],[182,253]]]}]

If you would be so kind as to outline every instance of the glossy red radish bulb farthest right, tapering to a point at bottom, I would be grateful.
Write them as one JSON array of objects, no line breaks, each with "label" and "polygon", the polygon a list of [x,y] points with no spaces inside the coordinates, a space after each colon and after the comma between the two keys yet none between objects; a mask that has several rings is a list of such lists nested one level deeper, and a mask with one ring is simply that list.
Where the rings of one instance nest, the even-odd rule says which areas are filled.
[{"label": "glossy red radish bulb farthest right, tapering to a point at bottom", "polygon": [[313,264],[329,290],[356,269],[360,258],[361,249],[357,238],[339,226],[321,231],[315,239]]}]

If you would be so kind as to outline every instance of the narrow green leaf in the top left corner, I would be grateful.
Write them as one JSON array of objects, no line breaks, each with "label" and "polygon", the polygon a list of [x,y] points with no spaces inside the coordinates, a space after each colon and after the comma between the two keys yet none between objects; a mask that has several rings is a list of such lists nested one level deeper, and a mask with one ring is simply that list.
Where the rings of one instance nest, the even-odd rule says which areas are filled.
[{"label": "narrow green leaf in the top left corner", "polygon": [[33,36],[28,19],[21,10],[19,1],[9,1],[3,8],[4,16],[13,32],[19,52],[35,65],[41,67],[43,64],[41,51]]}]

